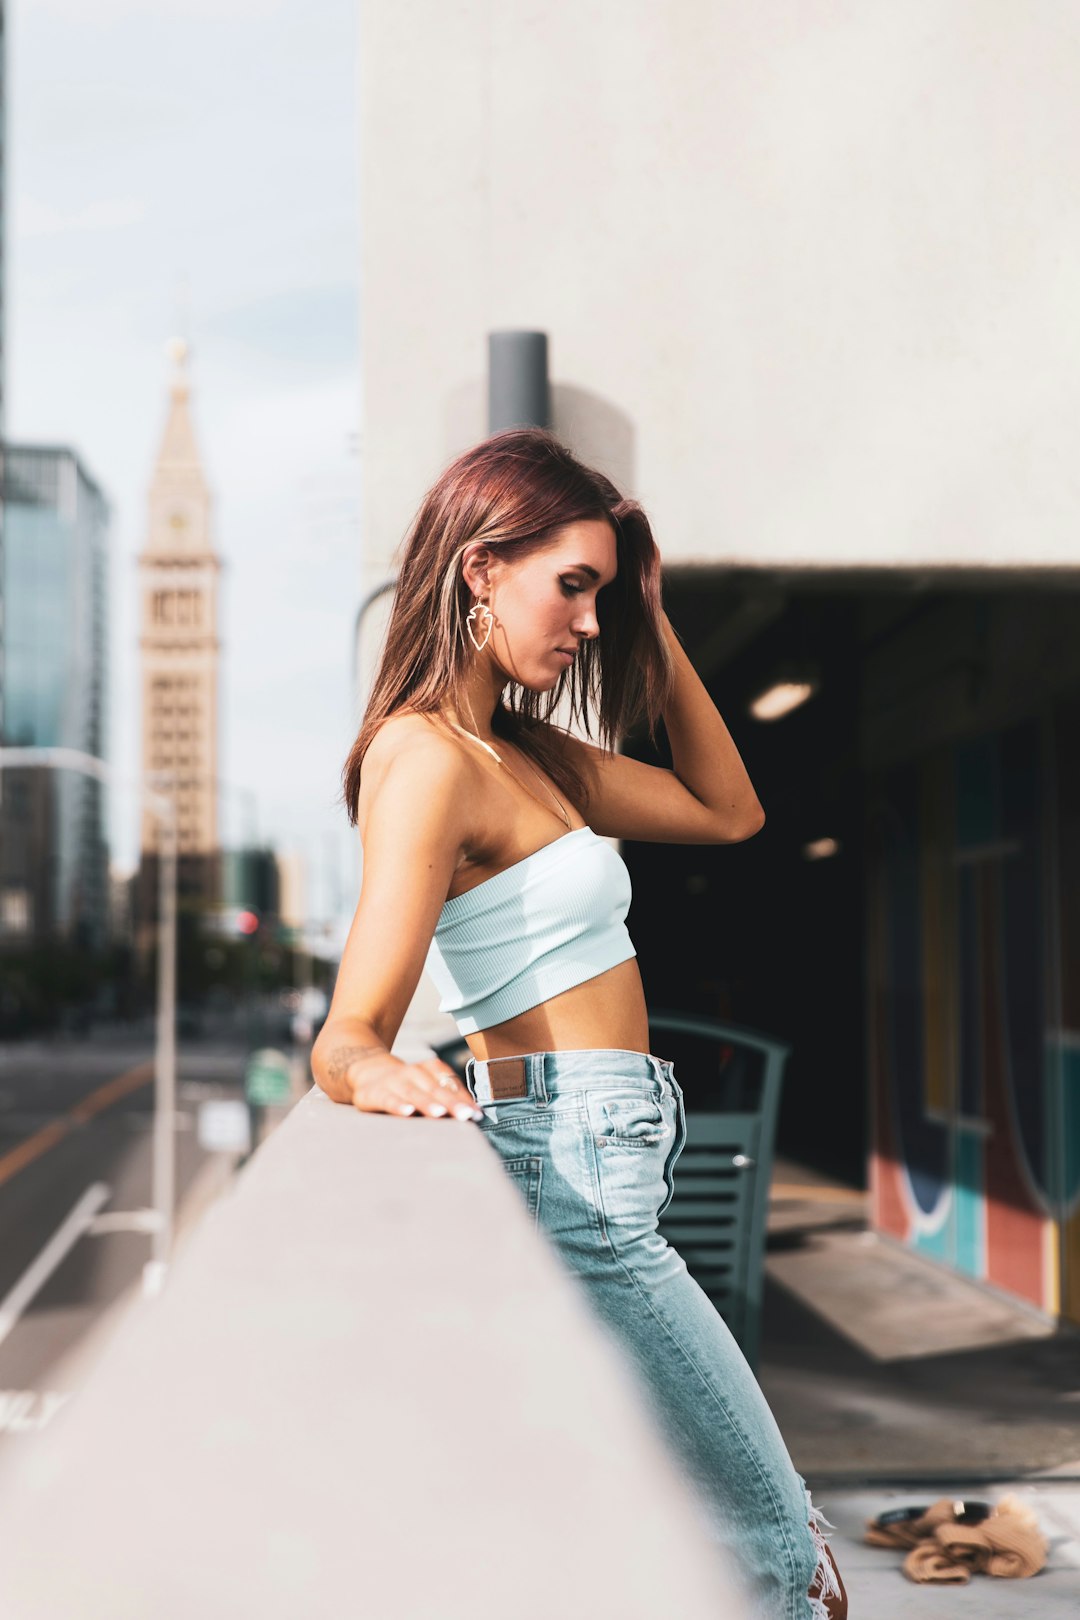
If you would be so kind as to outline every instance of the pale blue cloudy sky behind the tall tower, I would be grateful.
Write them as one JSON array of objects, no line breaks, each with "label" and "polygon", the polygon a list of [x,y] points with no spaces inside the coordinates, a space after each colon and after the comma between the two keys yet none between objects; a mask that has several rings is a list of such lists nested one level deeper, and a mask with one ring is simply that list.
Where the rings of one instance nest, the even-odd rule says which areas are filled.
[{"label": "pale blue cloudy sky behind the tall tower", "polygon": [[[300,850],[351,915],[337,804],[356,727],[358,0],[8,0],[6,437],[66,444],[112,507],[107,755],[139,768],[136,554],[167,340],[223,559],[225,844]],[[131,794],[112,859],[138,860]]]}]

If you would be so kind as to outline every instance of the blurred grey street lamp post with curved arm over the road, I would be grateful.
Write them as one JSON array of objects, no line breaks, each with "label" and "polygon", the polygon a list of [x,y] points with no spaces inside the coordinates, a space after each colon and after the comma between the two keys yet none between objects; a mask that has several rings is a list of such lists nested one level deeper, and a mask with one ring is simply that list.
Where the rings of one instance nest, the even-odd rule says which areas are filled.
[{"label": "blurred grey street lamp post with curved arm over the road", "polygon": [[176,812],[172,800],[147,786],[147,778],[121,776],[105,760],[81,748],[0,748],[5,766],[45,766],[81,771],[115,786],[134,786],[162,826],[157,917],[157,1019],[154,1040],[154,1168],[152,1209],[131,1210],[131,1225],[152,1234],[151,1259],[142,1268],[142,1290],[159,1293],[172,1257],[176,1192]]}]

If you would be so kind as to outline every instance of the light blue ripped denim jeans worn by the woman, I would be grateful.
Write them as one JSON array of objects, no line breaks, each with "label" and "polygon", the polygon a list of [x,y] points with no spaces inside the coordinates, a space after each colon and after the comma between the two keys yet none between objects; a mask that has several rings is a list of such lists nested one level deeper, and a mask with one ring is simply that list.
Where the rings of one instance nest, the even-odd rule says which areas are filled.
[{"label": "light blue ripped denim jeans worn by the woman", "polygon": [[821,1529],[724,1319],[657,1231],[687,1140],[674,1068],[615,1048],[471,1058],[465,1084],[536,1226],[614,1336],[742,1571],[755,1620],[824,1614]]}]

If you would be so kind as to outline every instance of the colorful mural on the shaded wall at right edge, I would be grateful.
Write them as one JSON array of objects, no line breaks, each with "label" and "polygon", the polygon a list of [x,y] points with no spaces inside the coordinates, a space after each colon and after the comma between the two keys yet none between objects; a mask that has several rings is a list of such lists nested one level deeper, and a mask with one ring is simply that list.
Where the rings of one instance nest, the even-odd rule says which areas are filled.
[{"label": "colorful mural on the shaded wall at right edge", "polygon": [[1080,701],[868,795],[874,1225],[1080,1320]]}]

